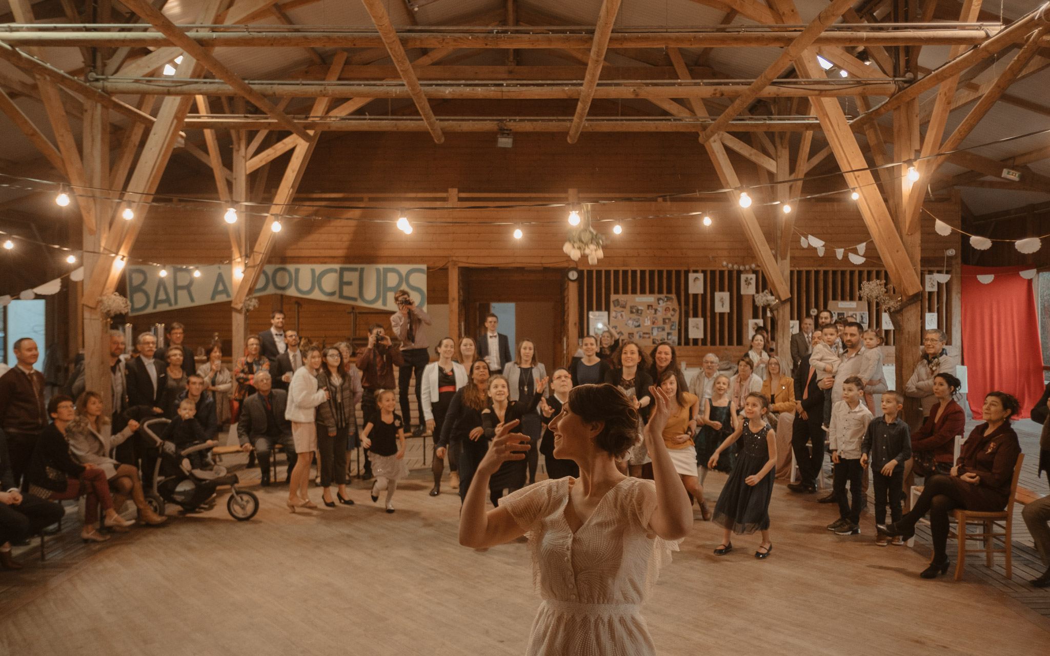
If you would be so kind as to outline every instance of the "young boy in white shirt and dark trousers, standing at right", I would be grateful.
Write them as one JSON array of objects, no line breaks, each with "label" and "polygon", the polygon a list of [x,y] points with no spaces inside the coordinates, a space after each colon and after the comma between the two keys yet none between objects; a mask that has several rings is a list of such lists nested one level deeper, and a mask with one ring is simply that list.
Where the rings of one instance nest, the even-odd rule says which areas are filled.
[{"label": "young boy in white shirt and dark trousers, standing at right", "polygon": [[[872,410],[860,402],[864,382],[850,376],[842,382],[842,400],[832,410],[832,426],[827,431],[827,447],[835,463],[833,487],[839,502],[839,519],[827,525],[827,530],[836,535],[860,534],[860,508],[864,503],[861,482],[864,465],[861,464],[861,445],[867,425],[872,423]],[[846,498],[846,482],[853,503]]]}]

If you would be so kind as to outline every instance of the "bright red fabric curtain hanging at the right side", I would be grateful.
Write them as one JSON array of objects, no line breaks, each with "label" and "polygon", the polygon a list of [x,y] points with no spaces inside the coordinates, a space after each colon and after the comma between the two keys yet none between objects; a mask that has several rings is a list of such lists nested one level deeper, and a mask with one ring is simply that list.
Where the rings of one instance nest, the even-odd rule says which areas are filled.
[{"label": "bright red fabric curtain hanging at the right side", "polygon": [[[980,419],[985,395],[1008,392],[1021,401],[1020,418],[1043,396],[1043,348],[1032,281],[1022,267],[963,266],[963,356],[970,409]],[[985,284],[979,275],[994,275]]]}]

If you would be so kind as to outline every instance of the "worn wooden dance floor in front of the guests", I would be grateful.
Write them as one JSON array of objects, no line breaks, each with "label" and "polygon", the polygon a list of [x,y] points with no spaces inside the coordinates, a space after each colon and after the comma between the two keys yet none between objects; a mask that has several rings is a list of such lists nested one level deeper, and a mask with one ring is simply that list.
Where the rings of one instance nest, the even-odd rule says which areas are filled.
[{"label": "worn wooden dance floor in front of the guests", "polygon": [[[419,467],[422,443],[410,445]],[[723,482],[708,479],[712,501]],[[306,514],[284,507],[287,488],[249,485],[262,507],[247,523],[220,500],[211,512],[84,546],[70,514],[45,563],[36,546],[23,548],[26,569],[0,572],[0,654],[524,651],[538,604],[526,546],[460,547],[459,499],[447,488],[427,496],[428,471],[402,482],[393,515],[368,484],[355,484],[353,507]],[[869,516],[862,535],[833,535],[830,508],[778,485],[772,517],[776,550],[765,562],[752,557],[757,535],[715,556],[720,529],[696,523],[645,610],[662,653],[984,656],[1050,643],[1050,620],[1021,606],[1023,593],[1009,598],[970,576],[979,567],[962,583],[922,580],[926,556],[877,547]],[[1027,587],[1042,604],[1035,592]]]}]

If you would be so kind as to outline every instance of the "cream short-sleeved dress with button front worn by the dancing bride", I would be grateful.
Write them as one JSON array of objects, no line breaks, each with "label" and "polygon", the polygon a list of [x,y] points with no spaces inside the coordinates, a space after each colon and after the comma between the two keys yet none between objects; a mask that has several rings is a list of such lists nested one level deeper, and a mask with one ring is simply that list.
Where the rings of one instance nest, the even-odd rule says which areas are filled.
[{"label": "cream short-sleeved dress with button front worn by the dancing bride", "polygon": [[528,532],[532,583],[543,598],[527,654],[655,654],[640,606],[680,542],[649,528],[656,487],[624,479],[573,533],[565,505],[574,483],[541,481],[500,501]]}]

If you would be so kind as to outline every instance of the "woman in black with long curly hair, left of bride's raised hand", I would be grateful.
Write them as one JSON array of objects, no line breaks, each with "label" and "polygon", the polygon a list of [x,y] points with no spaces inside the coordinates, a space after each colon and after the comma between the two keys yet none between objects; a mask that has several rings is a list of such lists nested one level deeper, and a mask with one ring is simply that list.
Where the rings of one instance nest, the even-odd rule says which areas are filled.
[{"label": "woman in black with long curly hair, left of bride's raised hand", "polygon": [[435,454],[444,458],[448,449],[459,450],[460,501],[466,496],[478,463],[488,450],[483,439],[481,411],[488,407],[488,362],[475,360],[470,366],[470,382],[460,388],[448,402],[448,411],[441,426],[441,437]]}]

